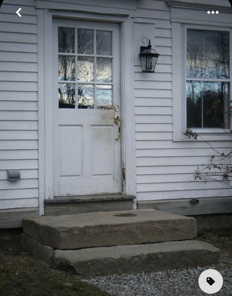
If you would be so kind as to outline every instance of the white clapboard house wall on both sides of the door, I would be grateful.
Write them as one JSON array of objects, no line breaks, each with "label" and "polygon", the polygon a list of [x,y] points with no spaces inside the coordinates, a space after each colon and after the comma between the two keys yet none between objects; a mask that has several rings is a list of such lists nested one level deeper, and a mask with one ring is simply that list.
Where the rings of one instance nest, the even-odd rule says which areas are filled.
[{"label": "white clapboard house wall on both sides of the door", "polygon": [[[43,7],[44,2],[48,8],[57,2],[61,8],[70,5],[72,9],[77,1],[40,0],[37,5]],[[86,2],[78,1],[83,7]],[[212,154],[205,143],[172,140],[170,6],[164,0],[107,1],[108,7],[105,1],[88,2],[95,5],[96,11],[134,11],[131,22],[154,25],[152,45],[160,53],[155,73],[141,73],[137,58],[134,66],[137,200],[231,196],[231,189],[223,183],[193,182],[196,166]],[[35,0],[21,0],[20,7],[23,17],[15,18],[18,0],[4,0],[0,16],[0,209],[39,205]],[[140,37],[135,25],[136,38]],[[135,48],[137,57],[139,46]],[[210,143],[217,148],[231,147],[229,141]],[[8,181],[8,169],[20,169],[22,180]]]}]

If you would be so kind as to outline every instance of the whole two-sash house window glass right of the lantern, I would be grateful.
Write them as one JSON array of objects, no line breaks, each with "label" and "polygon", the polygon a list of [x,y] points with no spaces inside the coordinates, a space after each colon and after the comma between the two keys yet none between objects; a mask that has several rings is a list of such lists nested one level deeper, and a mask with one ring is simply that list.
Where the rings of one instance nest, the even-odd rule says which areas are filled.
[{"label": "whole two-sash house window glass right of the lantern", "polygon": [[187,127],[229,128],[230,32],[187,29]]}]

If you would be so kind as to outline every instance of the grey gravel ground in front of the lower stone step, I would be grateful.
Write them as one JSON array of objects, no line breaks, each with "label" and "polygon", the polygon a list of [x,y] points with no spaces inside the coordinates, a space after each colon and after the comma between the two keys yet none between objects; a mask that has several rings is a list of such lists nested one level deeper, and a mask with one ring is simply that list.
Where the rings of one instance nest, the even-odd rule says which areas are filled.
[{"label": "grey gravel ground in front of the lower stone step", "polygon": [[217,265],[154,273],[114,274],[84,280],[114,296],[197,296],[207,295],[198,286],[199,275],[215,269],[224,284],[217,296],[232,296],[232,266],[221,260]]}]

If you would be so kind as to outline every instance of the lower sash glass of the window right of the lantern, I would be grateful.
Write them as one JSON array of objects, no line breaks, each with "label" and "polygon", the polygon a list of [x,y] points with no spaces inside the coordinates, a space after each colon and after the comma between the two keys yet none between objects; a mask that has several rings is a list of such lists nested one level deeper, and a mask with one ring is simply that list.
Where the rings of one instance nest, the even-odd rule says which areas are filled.
[{"label": "lower sash glass of the window right of the lantern", "polygon": [[229,83],[187,81],[187,127],[229,126]]}]

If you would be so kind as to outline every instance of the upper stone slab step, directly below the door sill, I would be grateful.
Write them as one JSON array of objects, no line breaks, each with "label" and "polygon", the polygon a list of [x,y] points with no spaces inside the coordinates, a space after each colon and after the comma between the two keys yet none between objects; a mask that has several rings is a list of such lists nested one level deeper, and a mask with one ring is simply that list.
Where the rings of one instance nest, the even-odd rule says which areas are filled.
[{"label": "upper stone slab step, directly below the door sill", "polygon": [[155,210],[111,211],[28,218],[23,232],[50,247],[77,249],[192,239],[196,221]]}]

